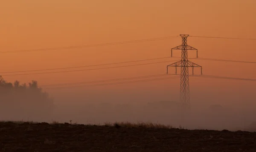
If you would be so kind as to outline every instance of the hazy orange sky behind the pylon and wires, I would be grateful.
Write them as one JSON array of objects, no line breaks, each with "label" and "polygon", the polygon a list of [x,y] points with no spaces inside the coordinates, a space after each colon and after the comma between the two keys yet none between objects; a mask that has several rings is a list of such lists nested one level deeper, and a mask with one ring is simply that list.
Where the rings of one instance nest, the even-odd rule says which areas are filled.
[{"label": "hazy orange sky behind the pylon and wires", "polygon": [[[255,14],[255,0],[6,0],[0,6],[0,51],[90,45],[179,34],[255,38]],[[217,59],[256,61],[254,43],[253,40],[188,38],[188,44],[198,48],[199,57]],[[1,53],[0,72],[165,57],[170,55],[170,48],[180,44],[181,39],[177,38],[95,48]],[[180,56],[180,51],[173,53],[174,56]],[[189,52],[189,57],[195,55],[194,51]],[[168,59],[149,62],[157,61]],[[192,61],[203,66],[204,74],[256,78],[254,64]],[[16,79],[29,82],[35,79],[39,84],[83,82],[162,74],[166,72],[166,65],[168,63],[70,73],[4,76],[4,79],[9,82]],[[170,72],[174,71],[174,68],[170,68]],[[199,73],[200,70],[196,72]],[[151,88],[156,92],[169,89],[178,93],[179,83],[179,79],[170,79],[103,88]],[[241,92],[243,89],[255,88],[255,83],[252,83],[254,82],[190,79],[191,88],[194,88],[192,93],[206,90],[206,87],[209,91],[230,89]]]}]

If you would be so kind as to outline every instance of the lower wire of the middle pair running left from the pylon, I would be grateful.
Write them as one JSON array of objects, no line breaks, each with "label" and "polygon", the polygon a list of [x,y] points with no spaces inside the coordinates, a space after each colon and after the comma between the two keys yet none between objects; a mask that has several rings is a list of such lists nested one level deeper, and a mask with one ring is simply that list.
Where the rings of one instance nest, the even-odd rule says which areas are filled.
[{"label": "lower wire of the middle pair running left from the pylon", "polygon": [[[175,61],[177,61],[177,60],[175,60]],[[47,74],[47,73],[77,72],[77,71],[86,71],[86,70],[101,70],[101,69],[111,69],[111,68],[131,67],[131,66],[138,66],[138,65],[151,65],[151,64],[156,64],[156,63],[165,63],[165,62],[171,62],[171,61],[164,61],[164,62],[152,62],[152,63],[137,64],[137,65],[123,65],[123,66],[108,67],[108,68],[83,69],[83,70],[66,70],[66,71],[54,71],[54,72],[42,72],[42,73],[20,73],[20,74],[7,74],[7,75],[2,75],[2,76],[20,76],[20,75],[34,75],[34,74]]]}]

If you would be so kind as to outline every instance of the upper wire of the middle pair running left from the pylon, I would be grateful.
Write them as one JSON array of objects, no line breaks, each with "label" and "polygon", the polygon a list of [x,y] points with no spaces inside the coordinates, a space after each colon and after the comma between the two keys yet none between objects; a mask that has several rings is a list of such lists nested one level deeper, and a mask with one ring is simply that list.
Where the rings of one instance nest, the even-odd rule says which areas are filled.
[{"label": "upper wire of the middle pair running left from the pylon", "polygon": [[51,69],[41,69],[41,70],[22,70],[22,71],[11,71],[11,72],[1,72],[1,73],[18,73],[18,72],[32,72],[32,71],[44,71],[44,70],[61,70],[61,69],[71,69],[71,68],[85,68],[85,67],[94,67],[94,66],[101,66],[101,65],[115,65],[115,64],[122,64],[122,63],[141,62],[141,61],[149,61],[149,60],[155,60],[155,59],[167,59],[167,58],[170,58],[170,57],[142,59],[142,60],[127,61],[127,62],[106,63],[106,64],[100,64],[100,65],[85,65],[85,66],[76,66],[76,67],[67,67],[67,68],[51,68]]}]

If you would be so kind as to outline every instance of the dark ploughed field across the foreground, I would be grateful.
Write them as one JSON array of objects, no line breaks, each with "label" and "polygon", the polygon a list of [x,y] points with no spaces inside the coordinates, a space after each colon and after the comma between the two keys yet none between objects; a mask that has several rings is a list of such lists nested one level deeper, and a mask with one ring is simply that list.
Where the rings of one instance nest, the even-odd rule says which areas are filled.
[{"label": "dark ploughed field across the foreground", "polygon": [[0,123],[1,152],[256,152],[256,132]]}]

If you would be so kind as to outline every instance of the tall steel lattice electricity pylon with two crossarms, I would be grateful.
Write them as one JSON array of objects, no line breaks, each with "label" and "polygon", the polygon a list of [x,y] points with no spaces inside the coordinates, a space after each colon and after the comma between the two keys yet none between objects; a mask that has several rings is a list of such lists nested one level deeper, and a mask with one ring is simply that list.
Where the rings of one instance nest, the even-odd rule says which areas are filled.
[{"label": "tall steel lattice electricity pylon with two crossarms", "polygon": [[[167,65],[167,74],[168,74],[168,67],[175,67],[176,74],[177,74],[177,67],[181,67],[180,71],[180,104],[182,109],[188,110],[190,109],[190,96],[189,96],[189,67],[192,67],[192,74],[194,74],[194,68],[200,67],[201,74],[202,74],[202,67],[198,64],[195,64],[188,60],[188,50],[196,50],[196,57],[198,58],[198,50],[193,48],[192,46],[187,45],[187,38],[189,35],[187,34],[180,34],[182,38],[182,44],[172,48],[172,50],[181,50],[181,60],[171,65]],[[172,57],[172,50],[171,50],[171,57]]]}]

